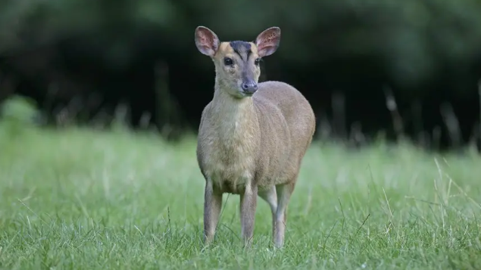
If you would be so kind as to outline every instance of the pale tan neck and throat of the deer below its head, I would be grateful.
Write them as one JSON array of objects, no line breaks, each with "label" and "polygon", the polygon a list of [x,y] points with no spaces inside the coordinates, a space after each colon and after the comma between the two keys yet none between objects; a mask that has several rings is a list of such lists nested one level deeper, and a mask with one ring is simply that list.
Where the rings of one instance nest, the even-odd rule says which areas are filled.
[{"label": "pale tan neck and throat of the deer below its head", "polygon": [[238,99],[215,84],[213,97],[216,130],[226,142],[245,140],[257,128],[257,115],[252,97]]}]

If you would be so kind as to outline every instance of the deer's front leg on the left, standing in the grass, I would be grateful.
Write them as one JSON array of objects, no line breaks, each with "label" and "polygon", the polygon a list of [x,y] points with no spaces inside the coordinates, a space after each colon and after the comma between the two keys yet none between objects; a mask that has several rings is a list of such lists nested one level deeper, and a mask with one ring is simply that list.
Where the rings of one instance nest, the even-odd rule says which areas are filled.
[{"label": "deer's front leg on the left, standing in the grass", "polygon": [[204,193],[204,243],[209,244],[215,236],[222,208],[222,193],[213,188],[212,181],[207,180]]}]

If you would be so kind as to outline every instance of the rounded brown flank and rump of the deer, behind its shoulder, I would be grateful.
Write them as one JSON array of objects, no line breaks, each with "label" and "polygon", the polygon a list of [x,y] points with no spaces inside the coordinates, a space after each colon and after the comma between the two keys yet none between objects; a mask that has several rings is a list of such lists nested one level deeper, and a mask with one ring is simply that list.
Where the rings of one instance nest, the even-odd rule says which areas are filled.
[{"label": "rounded brown flank and rump of the deer, behind its shoulder", "polygon": [[283,82],[262,82],[253,95],[261,134],[259,186],[293,180],[316,127],[309,102]]}]

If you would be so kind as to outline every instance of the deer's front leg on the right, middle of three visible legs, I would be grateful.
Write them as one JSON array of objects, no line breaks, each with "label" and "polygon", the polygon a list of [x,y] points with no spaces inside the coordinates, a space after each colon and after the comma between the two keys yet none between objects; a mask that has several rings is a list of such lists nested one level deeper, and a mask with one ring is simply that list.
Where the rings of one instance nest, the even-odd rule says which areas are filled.
[{"label": "deer's front leg on the right, middle of three visible legs", "polygon": [[246,247],[252,243],[256,206],[257,186],[248,184],[244,194],[240,195],[241,236]]}]

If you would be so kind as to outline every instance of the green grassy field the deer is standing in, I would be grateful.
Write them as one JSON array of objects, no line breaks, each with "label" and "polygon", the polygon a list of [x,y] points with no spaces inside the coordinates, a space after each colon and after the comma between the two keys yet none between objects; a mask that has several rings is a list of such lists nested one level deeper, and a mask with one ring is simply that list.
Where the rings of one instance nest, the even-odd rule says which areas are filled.
[{"label": "green grassy field the deer is standing in", "polygon": [[196,141],[0,124],[0,269],[481,269],[481,158],[315,143],[273,250],[259,201],[242,251],[224,195],[202,248]]}]

